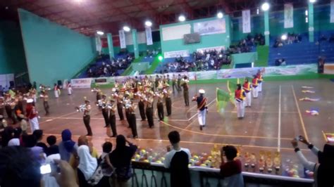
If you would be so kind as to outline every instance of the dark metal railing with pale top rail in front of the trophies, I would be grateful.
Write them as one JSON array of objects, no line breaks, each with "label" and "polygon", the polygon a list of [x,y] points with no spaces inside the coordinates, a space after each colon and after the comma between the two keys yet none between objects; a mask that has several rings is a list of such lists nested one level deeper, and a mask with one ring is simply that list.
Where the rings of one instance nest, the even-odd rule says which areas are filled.
[{"label": "dark metal railing with pale top rail in front of the trophies", "polygon": [[[168,187],[170,186],[170,174],[168,169],[161,164],[150,164],[146,162],[132,162],[133,176],[132,187]],[[219,169],[206,167],[190,167],[192,186],[200,187],[221,187],[223,178]],[[299,179],[287,176],[271,174],[257,174],[242,172],[245,186],[313,186],[313,179]]]}]

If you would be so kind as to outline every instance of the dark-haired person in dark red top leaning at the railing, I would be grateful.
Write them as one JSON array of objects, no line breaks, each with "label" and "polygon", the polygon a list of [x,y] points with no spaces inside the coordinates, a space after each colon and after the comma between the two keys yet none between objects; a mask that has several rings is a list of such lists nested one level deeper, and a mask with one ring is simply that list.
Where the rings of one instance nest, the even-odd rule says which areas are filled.
[{"label": "dark-haired person in dark red top leaning at the railing", "polygon": [[[226,161],[224,159],[226,157]],[[237,149],[234,146],[224,146],[221,149],[221,175],[224,177],[226,186],[242,187],[244,179],[242,177],[242,164],[237,157]]]}]

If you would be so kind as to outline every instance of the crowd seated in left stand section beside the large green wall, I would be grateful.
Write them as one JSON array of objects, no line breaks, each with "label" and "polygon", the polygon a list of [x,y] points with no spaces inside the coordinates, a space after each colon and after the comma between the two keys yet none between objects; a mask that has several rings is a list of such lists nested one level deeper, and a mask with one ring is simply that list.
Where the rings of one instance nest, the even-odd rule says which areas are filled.
[{"label": "crowd seated in left stand section beside the large green wall", "polygon": [[101,65],[94,63],[87,68],[87,77],[114,77],[119,76],[118,70],[125,70],[134,60],[133,56],[127,55],[124,58],[113,58],[109,56],[100,56]]}]

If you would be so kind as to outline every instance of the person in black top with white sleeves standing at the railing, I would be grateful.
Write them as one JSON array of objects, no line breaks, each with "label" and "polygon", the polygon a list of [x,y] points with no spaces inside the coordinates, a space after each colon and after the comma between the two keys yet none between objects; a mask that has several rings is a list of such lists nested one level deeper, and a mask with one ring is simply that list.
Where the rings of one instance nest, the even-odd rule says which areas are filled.
[{"label": "person in black top with white sleeves standing at the railing", "polygon": [[192,186],[188,164],[191,158],[190,150],[180,147],[180,134],[171,131],[168,134],[172,147],[167,147],[163,165],[171,171],[171,187]]}]

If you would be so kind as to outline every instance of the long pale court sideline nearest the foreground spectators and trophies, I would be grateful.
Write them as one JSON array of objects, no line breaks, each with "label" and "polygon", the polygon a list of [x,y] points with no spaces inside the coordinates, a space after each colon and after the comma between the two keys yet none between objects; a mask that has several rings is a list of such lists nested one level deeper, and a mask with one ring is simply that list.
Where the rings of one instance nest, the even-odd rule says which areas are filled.
[{"label": "long pale court sideline nearest the foreground spectators and trophies", "polygon": [[[49,135],[54,135],[54,136],[61,136],[61,134],[44,134],[46,136]],[[80,135],[75,135],[73,134],[72,136],[80,136]],[[57,138],[58,139],[58,138]],[[102,136],[89,136],[88,137],[89,141],[92,141],[93,139],[104,139],[104,141],[106,141],[107,139],[116,139],[116,138],[112,138],[112,137],[102,137]],[[163,139],[150,139],[150,138],[136,138],[133,139],[131,138],[132,141],[159,141],[159,142],[167,142],[169,143],[168,140],[163,140]],[[225,145],[230,145],[230,146],[241,146],[241,147],[249,147],[249,148],[264,148],[264,149],[276,149],[276,147],[270,147],[270,146],[252,146],[252,145],[242,145],[242,144],[233,144],[233,143],[211,143],[211,142],[201,142],[201,141],[180,141],[180,143],[195,143],[195,144],[204,144],[204,145],[218,145],[218,146],[225,146]],[[295,150],[294,148],[281,148],[282,150]],[[300,150],[304,150],[307,151],[309,149],[300,149]]]}]

